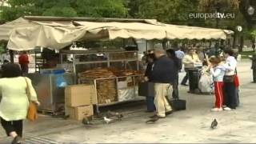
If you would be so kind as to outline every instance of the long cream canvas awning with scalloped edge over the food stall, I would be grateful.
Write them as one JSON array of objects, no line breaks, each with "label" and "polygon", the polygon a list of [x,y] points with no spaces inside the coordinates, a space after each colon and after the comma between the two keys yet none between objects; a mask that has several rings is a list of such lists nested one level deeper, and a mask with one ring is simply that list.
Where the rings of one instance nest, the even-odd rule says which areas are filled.
[{"label": "long cream canvas awning with scalloped edge over the food stall", "polygon": [[36,46],[62,49],[72,42],[115,38],[226,39],[231,30],[144,22],[32,21],[18,18],[0,26],[0,40],[10,50],[33,50]]}]

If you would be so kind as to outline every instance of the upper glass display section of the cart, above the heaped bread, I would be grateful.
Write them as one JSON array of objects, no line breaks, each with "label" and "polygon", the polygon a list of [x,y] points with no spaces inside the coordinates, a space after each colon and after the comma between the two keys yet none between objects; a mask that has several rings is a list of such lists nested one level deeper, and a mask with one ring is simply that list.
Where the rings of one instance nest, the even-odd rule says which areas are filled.
[{"label": "upper glass display section of the cart, above the heaped bread", "polygon": [[74,74],[97,67],[138,70],[138,51],[62,50],[60,57],[61,64],[72,65]]}]

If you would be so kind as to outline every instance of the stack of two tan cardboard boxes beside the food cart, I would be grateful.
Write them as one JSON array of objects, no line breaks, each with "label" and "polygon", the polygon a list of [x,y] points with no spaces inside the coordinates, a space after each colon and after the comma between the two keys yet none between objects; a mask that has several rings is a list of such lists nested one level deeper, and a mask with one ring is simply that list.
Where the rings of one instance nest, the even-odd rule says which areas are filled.
[{"label": "stack of two tan cardboard boxes beside the food cart", "polygon": [[97,103],[94,85],[74,85],[65,89],[65,113],[70,118],[82,118],[94,115],[93,105]]}]

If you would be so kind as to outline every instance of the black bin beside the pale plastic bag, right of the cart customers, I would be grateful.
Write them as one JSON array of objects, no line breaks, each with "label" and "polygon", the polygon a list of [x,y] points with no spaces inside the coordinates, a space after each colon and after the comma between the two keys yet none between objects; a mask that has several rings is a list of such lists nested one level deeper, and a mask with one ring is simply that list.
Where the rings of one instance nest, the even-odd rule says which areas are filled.
[{"label": "black bin beside the pale plastic bag, right of the cart customers", "polygon": [[198,83],[200,79],[199,69],[190,69],[189,73],[189,82],[190,82],[190,92],[193,93],[194,90],[198,89]]}]

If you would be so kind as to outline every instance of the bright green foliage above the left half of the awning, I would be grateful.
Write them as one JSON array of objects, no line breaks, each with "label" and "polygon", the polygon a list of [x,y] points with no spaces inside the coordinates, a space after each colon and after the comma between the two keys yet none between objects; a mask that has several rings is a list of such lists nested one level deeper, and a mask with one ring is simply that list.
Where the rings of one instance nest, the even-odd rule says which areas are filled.
[{"label": "bright green foliage above the left half of the awning", "polygon": [[63,17],[127,16],[123,0],[9,0],[10,6],[1,6],[1,19],[11,21],[24,15]]}]

